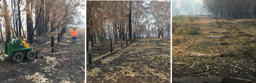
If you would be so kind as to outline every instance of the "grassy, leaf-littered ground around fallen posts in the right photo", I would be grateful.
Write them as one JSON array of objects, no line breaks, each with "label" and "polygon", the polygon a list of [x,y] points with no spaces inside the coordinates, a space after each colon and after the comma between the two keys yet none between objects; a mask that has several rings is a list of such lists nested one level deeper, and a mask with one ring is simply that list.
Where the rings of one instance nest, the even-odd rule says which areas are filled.
[{"label": "grassy, leaf-littered ground around fallen posts in the right photo", "polygon": [[[179,16],[178,16],[179,17]],[[174,18],[174,16],[173,16]],[[195,16],[194,16],[195,18]],[[188,35],[186,28],[191,27],[188,17],[174,18],[172,22],[179,25],[172,34],[172,77],[237,77],[256,81],[256,35],[255,20],[247,18],[222,21],[222,28],[216,29],[209,24],[210,18],[194,19],[194,27],[200,27],[199,35]],[[233,27],[231,27],[231,26]],[[238,30],[239,29],[239,30]],[[230,32],[229,34],[209,33],[209,31]],[[240,33],[239,33],[240,32]],[[242,33],[244,32],[244,33]],[[232,38],[204,38],[205,36],[231,36]],[[231,45],[199,45],[199,42],[225,42]],[[189,53],[223,54],[238,52],[238,57],[189,57]]]}]

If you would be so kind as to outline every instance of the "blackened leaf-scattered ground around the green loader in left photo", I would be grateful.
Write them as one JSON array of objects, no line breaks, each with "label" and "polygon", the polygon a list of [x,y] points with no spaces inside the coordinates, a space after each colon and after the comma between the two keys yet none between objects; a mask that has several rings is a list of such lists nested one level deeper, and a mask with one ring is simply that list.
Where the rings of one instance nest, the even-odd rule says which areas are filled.
[{"label": "blackened leaf-scattered ground around the green loader in left photo", "polygon": [[[84,83],[85,72],[80,68],[84,68],[85,53],[85,30],[77,29],[78,37],[76,44],[72,44],[71,31],[67,31],[60,43],[54,44],[54,53],[51,53],[51,36],[57,42],[57,32],[52,32],[43,37],[38,37],[35,43],[29,43],[31,47],[42,50],[44,57],[28,60],[24,57],[20,63],[15,63],[9,57],[1,55],[0,59],[0,82],[1,83]],[[26,40],[26,38],[24,38]],[[1,50],[4,50],[4,44],[1,44]],[[72,53],[68,53],[72,52]],[[70,59],[70,60],[64,60]],[[36,74],[36,73],[39,74]],[[32,75],[41,77],[31,77]],[[30,77],[30,78],[18,78]]]}]

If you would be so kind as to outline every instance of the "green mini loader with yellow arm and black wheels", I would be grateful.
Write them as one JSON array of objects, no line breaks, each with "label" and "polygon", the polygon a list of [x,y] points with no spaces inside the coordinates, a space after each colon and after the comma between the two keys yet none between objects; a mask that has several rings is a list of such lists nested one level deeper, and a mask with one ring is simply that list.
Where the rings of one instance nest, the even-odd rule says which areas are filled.
[{"label": "green mini loader with yellow arm and black wheels", "polygon": [[14,62],[21,62],[24,57],[28,60],[34,60],[36,57],[40,58],[43,56],[38,49],[30,47],[22,37],[14,37],[9,42],[5,41],[4,55],[12,57]]}]

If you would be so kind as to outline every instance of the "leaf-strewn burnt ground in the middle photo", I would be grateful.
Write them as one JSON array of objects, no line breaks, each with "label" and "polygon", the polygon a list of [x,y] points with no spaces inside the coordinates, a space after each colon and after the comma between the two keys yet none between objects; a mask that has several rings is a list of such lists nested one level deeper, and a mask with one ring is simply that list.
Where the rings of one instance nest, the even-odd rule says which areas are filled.
[{"label": "leaf-strewn burnt ground in the middle photo", "polygon": [[[126,41],[110,40],[94,44],[92,65],[87,62],[87,83],[170,82],[170,38],[142,38],[126,46]],[[88,61],[88,52],[87,52]]]}]

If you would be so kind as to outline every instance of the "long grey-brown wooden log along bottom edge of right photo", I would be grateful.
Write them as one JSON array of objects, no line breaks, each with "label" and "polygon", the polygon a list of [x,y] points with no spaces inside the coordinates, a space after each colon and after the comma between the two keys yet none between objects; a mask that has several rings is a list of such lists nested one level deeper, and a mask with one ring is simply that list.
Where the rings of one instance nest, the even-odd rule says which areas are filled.
[{"label": "long grey-brown wooden log along bottom edge of right photo", "polygon": [[172,78],[173,83],[220,83],[222,80],[222,77]]}]

